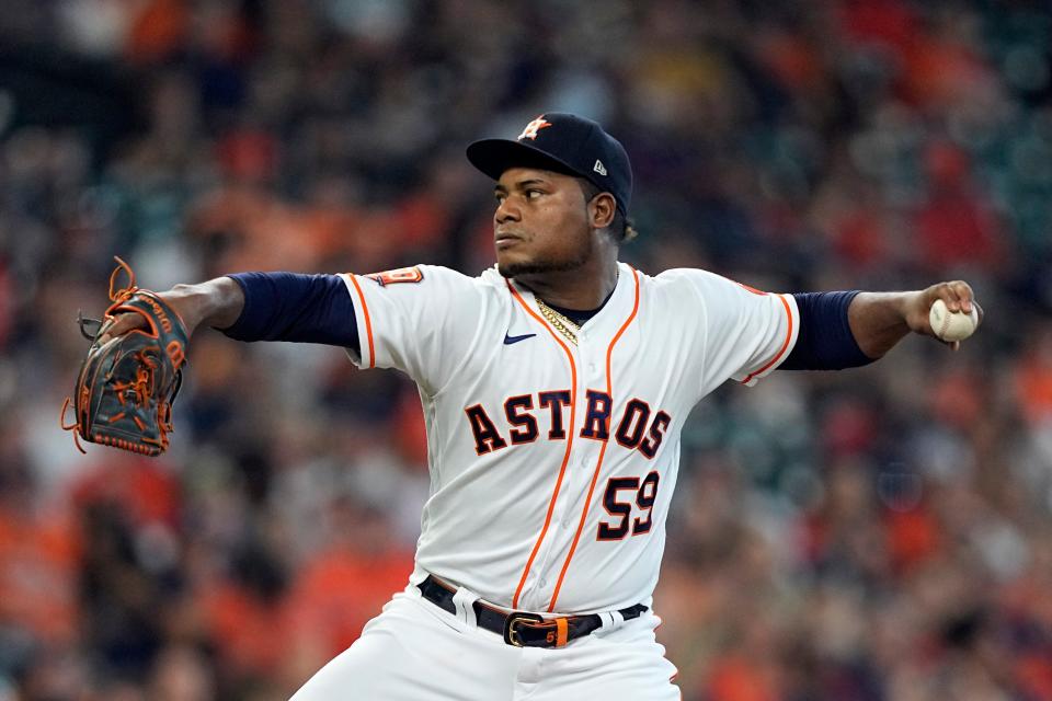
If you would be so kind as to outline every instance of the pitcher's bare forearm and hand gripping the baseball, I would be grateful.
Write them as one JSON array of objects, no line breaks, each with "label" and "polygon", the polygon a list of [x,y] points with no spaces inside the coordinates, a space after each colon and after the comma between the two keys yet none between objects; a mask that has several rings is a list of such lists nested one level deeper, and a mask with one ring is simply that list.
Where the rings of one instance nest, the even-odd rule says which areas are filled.
[{"label": "pitcher's bare forearm and hand gripping the baseball", "polygon": [[[911,332],[935,336],[928,312],[937,299],[945,301],[952,312],[971,313],[974,307],[982,322],[983,309],[975,301],[971,286],[962,280],[939,283],[913,292],[859,292],[847,310],[848,324],[859,349],[877,359]],[[960,342],[947,345],[956,350]]]}]

